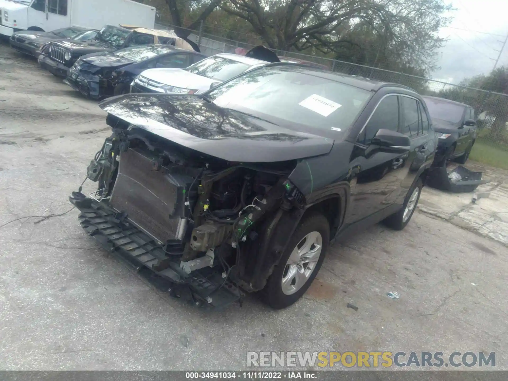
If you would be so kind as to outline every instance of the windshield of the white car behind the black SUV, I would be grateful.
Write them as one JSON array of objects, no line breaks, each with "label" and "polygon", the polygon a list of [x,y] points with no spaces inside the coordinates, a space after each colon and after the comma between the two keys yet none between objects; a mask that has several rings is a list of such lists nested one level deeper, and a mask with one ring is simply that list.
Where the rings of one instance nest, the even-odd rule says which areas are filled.
[{"label": "windshield of the white car behind the black SUV", "polygon": [[191,65],[184,70],[202,77],[224,82],[243,73],[245,70],[250,68],[250,66],[251,65],[248,63],[213,56],[196,62],[194,65]]}]

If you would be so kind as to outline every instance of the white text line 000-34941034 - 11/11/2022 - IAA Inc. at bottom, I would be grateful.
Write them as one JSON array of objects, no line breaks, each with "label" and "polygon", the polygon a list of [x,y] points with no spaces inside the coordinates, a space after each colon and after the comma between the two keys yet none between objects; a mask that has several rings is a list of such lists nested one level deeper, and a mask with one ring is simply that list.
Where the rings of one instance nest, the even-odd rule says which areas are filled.
[{"label": "white text line 000-34941034 - 11/11/2022 - IAA Inc. at bottom", "polygon": [[316,372],[308,371],[285,371],[285,372],[262,372],[262,371],[221,371],[221,372],[185,372],[187,379],[316,379]]}]

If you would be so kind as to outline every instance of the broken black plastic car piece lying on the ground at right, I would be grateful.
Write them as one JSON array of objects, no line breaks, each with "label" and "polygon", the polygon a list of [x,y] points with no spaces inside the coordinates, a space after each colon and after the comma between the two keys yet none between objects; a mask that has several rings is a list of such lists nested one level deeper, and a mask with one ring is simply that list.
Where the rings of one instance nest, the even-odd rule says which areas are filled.
[{"label": "broken black plastic car piece lying on the ground at right", "polygon": [[473,192],[478,185],[486,182],[482,180],[482,172],[473,172],[464,166],[458,166],[452,171],[448,171],[446,165],[431,168],[427,176],[429,186],[456,193]]}]

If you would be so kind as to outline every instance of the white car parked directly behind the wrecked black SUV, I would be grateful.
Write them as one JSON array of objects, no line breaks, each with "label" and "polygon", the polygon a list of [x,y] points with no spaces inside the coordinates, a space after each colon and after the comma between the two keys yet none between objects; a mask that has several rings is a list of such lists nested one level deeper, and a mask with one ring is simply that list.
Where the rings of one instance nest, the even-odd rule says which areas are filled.
[{"label": "white car parked directly behind the wrecked black SUV", "polygon": [[199,94],[267,63],[238,54],[215,54],[185,69],[145,70],[131,83],[131,92]]}]

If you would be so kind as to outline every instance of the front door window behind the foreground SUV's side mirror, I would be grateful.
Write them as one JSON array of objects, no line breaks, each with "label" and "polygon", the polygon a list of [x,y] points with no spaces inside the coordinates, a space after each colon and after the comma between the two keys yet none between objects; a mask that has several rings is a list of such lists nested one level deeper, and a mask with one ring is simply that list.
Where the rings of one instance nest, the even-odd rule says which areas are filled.
[{"label": "front door window behind the foreground SUV's side mirror", "polygon": [[397,131],[399,129],[399,97],[396,95],[384,98],[365,125],[358,137],[358,142],[369,145],[380,129]]}]

